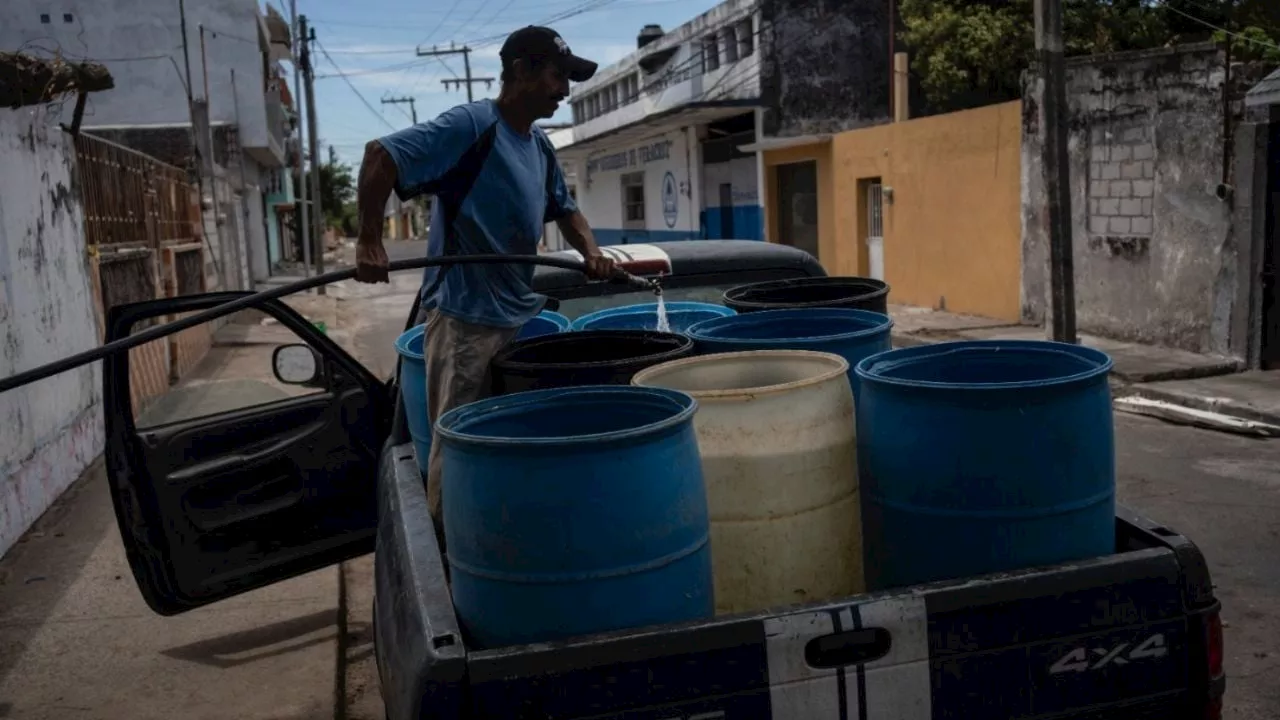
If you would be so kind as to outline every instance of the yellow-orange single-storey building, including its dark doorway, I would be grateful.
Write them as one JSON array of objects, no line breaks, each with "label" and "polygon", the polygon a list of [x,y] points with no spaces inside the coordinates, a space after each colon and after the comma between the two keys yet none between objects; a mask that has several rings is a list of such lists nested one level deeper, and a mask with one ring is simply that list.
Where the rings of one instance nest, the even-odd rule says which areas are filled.
[{"label": "yellow-orange single-storey building, including its dark doorway", "polygon": [[882,277],[893,304],[1019,319],[1020,102],[760,150],[768,240]]}]

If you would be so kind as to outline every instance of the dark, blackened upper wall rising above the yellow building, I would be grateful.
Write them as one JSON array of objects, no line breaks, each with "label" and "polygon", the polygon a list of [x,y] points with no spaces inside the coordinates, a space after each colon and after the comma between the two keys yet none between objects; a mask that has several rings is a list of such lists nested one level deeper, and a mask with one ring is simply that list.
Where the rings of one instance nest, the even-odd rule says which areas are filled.
[{"label": "dark, blackened upper wall rising above the yellow building", "polygon": [[890,3],[764,0],[764,135],[832,133],[888,120]]}]

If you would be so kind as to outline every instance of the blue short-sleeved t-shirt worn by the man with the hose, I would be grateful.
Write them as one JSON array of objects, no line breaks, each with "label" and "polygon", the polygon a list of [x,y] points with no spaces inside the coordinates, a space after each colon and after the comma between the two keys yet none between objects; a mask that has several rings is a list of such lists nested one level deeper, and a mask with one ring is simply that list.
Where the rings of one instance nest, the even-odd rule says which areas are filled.
[{"label": "blue short-sleeved t-shirt worn by the man with the hose", "polygon": [[[403,200],[430,191],[431,183],[438,183],[490,129],[493,146],[454,219],[456,245],[448,254],[536,255],[545,223],[577,210],[541,128],[534,126],[529,135],[521,135],[502,119],[493,100],[480,100],[383,137],[379,143],[396,161],[396,193]],[[548,172],[553,174],[549,186]],[[429,256],[447,254],[445,231],[444,204],[436,201],[426,238]],[[545,302],[532,291],[534,266],[526,264],[426,268],[424,293],[435,273],[445,270],[440,286],[431,297],[422,297],[422,304],[466,323],[520,327]]]}]

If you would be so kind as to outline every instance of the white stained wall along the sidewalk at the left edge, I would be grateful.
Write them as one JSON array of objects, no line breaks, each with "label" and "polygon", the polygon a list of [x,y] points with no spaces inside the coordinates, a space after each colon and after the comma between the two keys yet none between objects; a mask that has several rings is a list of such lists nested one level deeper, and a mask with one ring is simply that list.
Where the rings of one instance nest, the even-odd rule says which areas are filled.
[{"label": "white stained wall along the sidewalk at the left edge", "polygon": [[[0,109],[0,375],[97,345],[70,138]],[[0,395],[0,555],[102,452],[97,364]]]}]

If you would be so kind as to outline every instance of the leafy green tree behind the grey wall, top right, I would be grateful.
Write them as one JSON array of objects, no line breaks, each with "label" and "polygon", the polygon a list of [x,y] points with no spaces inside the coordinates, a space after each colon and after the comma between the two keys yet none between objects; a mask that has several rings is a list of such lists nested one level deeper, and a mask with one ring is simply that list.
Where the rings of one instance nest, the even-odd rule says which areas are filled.
[{"label": "leafy green tree behind the grey wall, top right", "polygon": [[[1233,31],[1244,60],[1280,61],[1280,3],[1235,0],[1064,0],[1068,55],[1142,50]],[[901,40],[934,111],[1015,100],[1036,60],[1033,0],[900,0]]]}]

